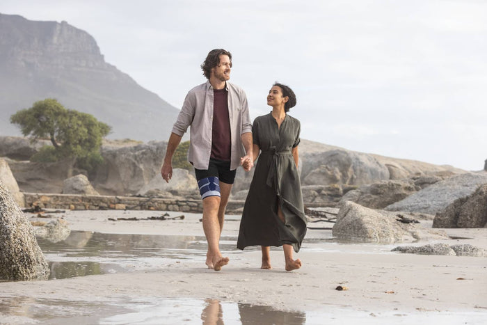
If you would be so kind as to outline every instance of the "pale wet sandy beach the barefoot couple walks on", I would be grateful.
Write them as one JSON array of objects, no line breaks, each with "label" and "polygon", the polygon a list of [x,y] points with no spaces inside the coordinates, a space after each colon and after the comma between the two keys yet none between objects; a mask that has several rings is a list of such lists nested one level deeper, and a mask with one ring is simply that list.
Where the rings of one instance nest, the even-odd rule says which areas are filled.
[{"label": "pale wet sandy beach the barefoot couple walks on", "polygon": [[[234,248],[239,216],[229,215],[222,246],[230,263],[213,271],[205,267],[200,214],[168,212],[170,217],[184,214],[182,220],[110,220],[162,213],[53,215],[62,216],[72,231],[184,235],[198,241],[199,252],[176,250],[170,258],[133,262],[129,271],[0,283],[0,323],[216,324],[219,319],[218,324],[410,324],[422,319],[433,324],[485,324],[487,319],[487,257],[395,253],[390,250],[406,244],[337,243],[330,230],[308,230],[301,251],[294,255],[302,260],[301,269],[285,271],[282,249],[273,248],[273,269],[262,270],[260,250]],[[487,228],[445,231],[455,239],[440,242],[487,249]],[[55,257],[47,254],[47,260]],[[336,290],[337,286],[346,290]]]}]

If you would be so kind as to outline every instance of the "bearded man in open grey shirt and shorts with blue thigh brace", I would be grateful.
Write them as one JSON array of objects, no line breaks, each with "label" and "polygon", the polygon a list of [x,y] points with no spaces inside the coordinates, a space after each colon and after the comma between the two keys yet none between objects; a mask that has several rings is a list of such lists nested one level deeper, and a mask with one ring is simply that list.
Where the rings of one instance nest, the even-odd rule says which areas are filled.
[{"label": "bearded man in open grey shirt and shorts with blue thigh brace", "polygon": [[250,160],[246,171],[253,167],[252,125],[244,90],[227,82],[232,54],[225,49],[211,50],[201,68],[207,82],[189,90],[184,99],[170,134],[161,175],[169,182],[173,154],[191,125],[188,160],[195,168],[203,200],[206,264],[220,271],[229,261],[221,255],[219,243],[235,173],[241,161]]}]

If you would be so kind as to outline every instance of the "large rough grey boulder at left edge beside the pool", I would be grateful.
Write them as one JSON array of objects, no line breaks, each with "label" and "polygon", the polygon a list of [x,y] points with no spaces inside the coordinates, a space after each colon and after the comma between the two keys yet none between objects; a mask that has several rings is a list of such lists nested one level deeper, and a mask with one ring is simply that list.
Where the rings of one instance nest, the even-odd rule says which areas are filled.
[{"label": "large rough grey boulder at left edge beside the pool", "polygon": [[49,277],[49,266],[35,240],[34,229],[0,181],[0,280]]}]

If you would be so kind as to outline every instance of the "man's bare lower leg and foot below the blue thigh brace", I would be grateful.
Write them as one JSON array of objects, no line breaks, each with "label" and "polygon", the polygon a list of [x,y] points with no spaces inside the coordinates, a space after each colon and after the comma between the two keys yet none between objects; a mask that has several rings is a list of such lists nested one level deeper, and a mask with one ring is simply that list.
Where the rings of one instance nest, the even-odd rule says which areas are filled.
[{"label": "man's bare lower leg and foot below the blue thigh brace", "polygon": [[219,196],[208,196],[203,199],[203,230],[208,242],[207,266],[215,271],[228,264],[228,257],[220,253],[221,227],[218,221]]}]

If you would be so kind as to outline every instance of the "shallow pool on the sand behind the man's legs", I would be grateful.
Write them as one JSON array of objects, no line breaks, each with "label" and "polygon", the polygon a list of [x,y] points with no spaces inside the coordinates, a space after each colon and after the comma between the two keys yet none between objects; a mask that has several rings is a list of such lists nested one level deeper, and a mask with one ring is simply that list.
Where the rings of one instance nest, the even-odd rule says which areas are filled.
[{"label": "shallow pool on the sand behind the man's legs", "polygon": [[[159,267],[164,259],[204,260],[207,250],[203,236],[72,231],[63,241],[52,242],[40,237],[37,240],[49,262],[49,279],[151,269]],[[237,250],[234,241],[223,237],[221,249]]]}]

